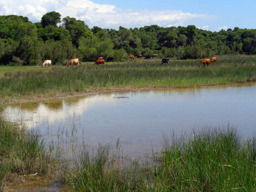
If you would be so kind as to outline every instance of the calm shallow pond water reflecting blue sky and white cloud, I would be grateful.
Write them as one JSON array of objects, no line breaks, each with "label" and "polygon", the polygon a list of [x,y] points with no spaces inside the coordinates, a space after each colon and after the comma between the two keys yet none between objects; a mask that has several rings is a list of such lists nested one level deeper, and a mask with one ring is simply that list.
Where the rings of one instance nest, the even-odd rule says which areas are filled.
[{"label": "calm shallow pond water reflecting blue sky and white cloud", "polygon": [[[120,98],[118,98],[120,97]],[[123,98],[122,98],[123,97]],[[75,123],[78,142],[109,143],[121,137],[130,152],[160,149],[162,136],[190,132],[204,125],[237,126],[243,135],[256,129],[256,84],[202,89],[153,90],[74,97],[7,106],[5,117],[28,127],[60,127]],[[55,104],[54,104],[55,103]]]}]

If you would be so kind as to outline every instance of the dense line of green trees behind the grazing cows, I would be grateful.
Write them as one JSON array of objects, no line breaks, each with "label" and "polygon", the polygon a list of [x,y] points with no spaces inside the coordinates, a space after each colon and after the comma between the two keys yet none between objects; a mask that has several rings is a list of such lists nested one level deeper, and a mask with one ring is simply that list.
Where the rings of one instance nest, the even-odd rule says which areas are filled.
[{"label": "dense line of green trees behind the grazing cows", "polygon": [[48,12],[41,22],[27,17],[0,16],[0,64],[35,65],[50,59],[63,64],[79,57],[94,61],[99,56],[127,60],[128,54],[197,59],[214,53],[256,53],[256,29],[232,29],[211,32],[187,27],[144,26],[119,30],[89,27],[69,16],[61,20],[58,12]]}]

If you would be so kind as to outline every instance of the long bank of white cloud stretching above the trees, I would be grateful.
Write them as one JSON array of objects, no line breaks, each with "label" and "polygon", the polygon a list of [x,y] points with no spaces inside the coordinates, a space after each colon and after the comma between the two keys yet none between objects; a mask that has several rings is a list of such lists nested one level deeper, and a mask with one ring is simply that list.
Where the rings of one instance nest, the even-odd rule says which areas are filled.
[{"label": "long bank of white cloud stretching above the trees", "polygon": [[[118,29],[123,27],[143,27],[159,25],[163,27],[183,26],[191,19],[205,19],[207,14],[191,14],[176,10],[121,10],[114,5],[97,4],[90,0],[0,0],[0,15],[27,16],[32,22],[39,22],[50,11],[83,20],[90,28]],[[204,26],[206,27],[206,26]]]}]

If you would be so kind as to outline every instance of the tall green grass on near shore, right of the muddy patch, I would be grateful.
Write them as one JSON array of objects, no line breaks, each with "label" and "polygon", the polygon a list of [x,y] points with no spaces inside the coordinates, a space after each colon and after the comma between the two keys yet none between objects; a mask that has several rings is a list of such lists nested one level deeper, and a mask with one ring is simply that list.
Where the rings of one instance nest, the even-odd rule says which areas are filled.
[{"label": "tall green grass on near shore, right of the muddy patch", "polygon": [[126,166],[109,145],[83,146],[74,164],[62,167],[61,180],[71,191],[255,191],[255,139],[229,125],[205,127],[165,137],[161,155]]}]

